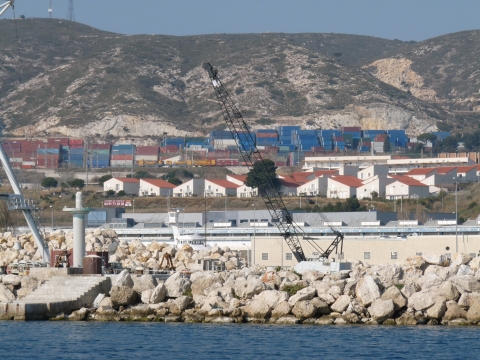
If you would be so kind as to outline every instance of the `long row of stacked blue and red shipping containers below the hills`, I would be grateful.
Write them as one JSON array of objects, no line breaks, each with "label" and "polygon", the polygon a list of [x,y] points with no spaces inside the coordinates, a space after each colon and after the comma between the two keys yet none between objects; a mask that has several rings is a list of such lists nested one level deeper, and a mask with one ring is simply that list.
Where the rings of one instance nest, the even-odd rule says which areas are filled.
[{"label": "long row of stacked blue and red shipping containers below the hills", "polygon": [[[449,132],[433,132],[437,141]],[[14,168],[131,168],[132,166],[242,166],[238,144],[249,150],[252,141],[262,155],[277,166],[301,166],[305,157],[382,154],[385,141],[392,153],[412,151],[418,144],[405,130],[341,129],[306,130],[300,126],[257,129],[251,134],[211,131],[207,137],[167,137],[158,146],[86,143],[83,139],[48,138],[6,140],[2,146]],[[426,142],[431,150],[435,142]],[[475,157],[477,158],[477,156]]]}]

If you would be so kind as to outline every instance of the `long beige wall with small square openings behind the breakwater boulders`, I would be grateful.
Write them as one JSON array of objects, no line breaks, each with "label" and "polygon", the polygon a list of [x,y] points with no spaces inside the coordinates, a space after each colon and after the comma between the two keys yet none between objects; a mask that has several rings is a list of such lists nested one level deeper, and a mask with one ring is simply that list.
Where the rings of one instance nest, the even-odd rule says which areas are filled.
[{"label": "long beige wall with small square openings behind the breakwater boulders", "polygon": [[[322,240],[311,240],[322,249],[327,249],[333,237]],[[300,240],[307,256],[317,250],[307,241]],[[448,249],[447,249],[448,248]],[[346,237],[343,244],[344,259],[360,260],[371,265],[395,264],[403,262],[407,257],[417,253],[454,254],[456,251],[455,235],[435,236],[408,236],[406,239],[380,239],[379,237]],[[458,251],[478,254],[480,251],[480,235],[459,235]],[[255,263],[263,266],[292,266],[297,262],[287,260],[287,253],[291,253],[287,243],[282,238],[259,237],[252,239],[252,253]],[[366,253],[369,259],[366,259]],[[396,253],[396,259],[393,254]],[[262,260],[262,254],[268,254],[268,260]],[[330,258],[336,258],[333,253]],[[337,260],[338,261],[338,260]]]}]

